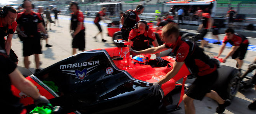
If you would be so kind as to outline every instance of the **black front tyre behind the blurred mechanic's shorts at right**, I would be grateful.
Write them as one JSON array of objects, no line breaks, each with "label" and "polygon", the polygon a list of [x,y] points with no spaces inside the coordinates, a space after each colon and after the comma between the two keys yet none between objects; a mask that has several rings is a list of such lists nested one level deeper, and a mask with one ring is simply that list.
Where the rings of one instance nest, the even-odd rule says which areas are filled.
[{"label": "black front tyre behind the blurred mechanic's shorts at right", "polygon": [[240,85],[241,74],[239,71],[236,68],[222,65],[218,68],[218,75],[212,90],[216,91],[223,99],[235,97]]}]

